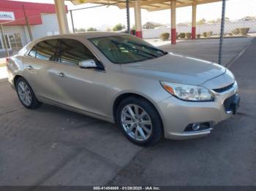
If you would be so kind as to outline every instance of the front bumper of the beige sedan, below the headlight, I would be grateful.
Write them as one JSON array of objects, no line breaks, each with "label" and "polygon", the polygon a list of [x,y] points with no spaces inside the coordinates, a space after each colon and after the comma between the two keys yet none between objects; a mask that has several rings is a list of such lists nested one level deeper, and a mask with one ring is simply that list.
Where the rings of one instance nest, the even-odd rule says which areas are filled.
[{"label": "front bumper of the beige sedan, below the headlight", "polygon": [[[159,112],[165,129],[166,139],[193,139],[211,133],[214,125],[236,114],[240,98],[237,88],[225,93],[214,93],[214,101],[181,101],[171,96],[159,102]],[[228,102],[228,103],[227,103]],[[187,132],[189,124],[208,122],[209,128]]]}]

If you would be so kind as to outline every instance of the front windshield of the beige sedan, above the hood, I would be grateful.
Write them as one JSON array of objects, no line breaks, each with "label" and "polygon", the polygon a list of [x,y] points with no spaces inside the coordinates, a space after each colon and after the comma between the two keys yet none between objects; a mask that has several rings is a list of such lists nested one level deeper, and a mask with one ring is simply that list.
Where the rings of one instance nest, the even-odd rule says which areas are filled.
[{"label": "front windshield of the beige sedan, above the hood", "polygon": [[113,63],[135,63],[167,54],[142,39],[129,35],[104,36],[89,40]]}]

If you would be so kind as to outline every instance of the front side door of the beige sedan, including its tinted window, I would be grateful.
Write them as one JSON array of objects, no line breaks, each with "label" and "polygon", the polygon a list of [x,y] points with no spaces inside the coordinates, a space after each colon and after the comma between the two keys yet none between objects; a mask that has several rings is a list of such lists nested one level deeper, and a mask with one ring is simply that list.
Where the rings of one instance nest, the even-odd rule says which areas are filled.
[{"label": "front side door of the beige sedan, including its tinted window", "polygon": [[[59,102],[71,109],[107,117],[106,73],[104,69],[81,69],[80,61],[94,59],[94,54],[75,39],[59,39],[58,63],[52,65],[48,73],[58,85]],[[99,63],[99,62],[98,62]]]}]

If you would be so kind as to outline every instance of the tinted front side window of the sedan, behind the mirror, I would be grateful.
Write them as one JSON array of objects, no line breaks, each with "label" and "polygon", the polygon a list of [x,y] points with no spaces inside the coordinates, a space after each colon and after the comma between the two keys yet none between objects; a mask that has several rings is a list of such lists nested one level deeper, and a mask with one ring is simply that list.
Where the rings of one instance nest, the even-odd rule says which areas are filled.
[{"label": "tinted front side window of the sedan, behind the mirror", "polygon": [[80,61],[94,59],[92,52],[81,42],[74,39],[61,39],[61,50],[59,61],[78,65]]}]

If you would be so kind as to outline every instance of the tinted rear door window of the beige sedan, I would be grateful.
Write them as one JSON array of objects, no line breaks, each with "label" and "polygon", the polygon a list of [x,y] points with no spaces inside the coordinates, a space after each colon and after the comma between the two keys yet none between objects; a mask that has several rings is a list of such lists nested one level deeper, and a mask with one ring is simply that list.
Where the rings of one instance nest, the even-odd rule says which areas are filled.
[{"label": "tinted rear door window of the beige sedan", "polygon": [[57,50],[58,40],[51,39],[37,44],[36,57],[48,61],[57,61]]}]

